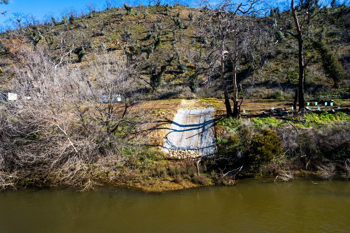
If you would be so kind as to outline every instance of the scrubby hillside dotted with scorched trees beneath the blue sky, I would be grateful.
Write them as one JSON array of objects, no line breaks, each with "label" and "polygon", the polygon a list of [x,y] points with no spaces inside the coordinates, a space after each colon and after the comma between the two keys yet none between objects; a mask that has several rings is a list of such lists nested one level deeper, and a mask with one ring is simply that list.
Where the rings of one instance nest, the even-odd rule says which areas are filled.
[{"label": "scrubby hillside dotted with scorched trees beneath the blue sky", "polygon": [[[281,14],[287,13],[275,10],[270,17],[279,19]],[[15,63],[8,46],[26,43],[45,50],[57,62],[60,54],[67,53],[63,63],[72,63],[83,70],[88,68],[87,60],[93,59],[96,49],[106,49],[112,54],[124,53],[128,63],[143,78],[139,79],[139,87],[146,99],[222,98],[218,75],[207,79],[205,66],[208,61],[203,61],[203,57],[210,55],[218,45],[215,38],[202,38],[198,33],[201,26],[197,19],[202,14],[198,9],[181,5],[140,6],[128,10],[127,7],[113,8],[85,15],[72,13],[61,22],[52,19],[45,24],[30,24],[8,31],[1,34],[2,88],[8,87],[7,81],[14,76],[11,70]],[[306,69],[306,98],[349,98],[349,76],[339,89],[334,89],[333,80],[325,76],[319,54],[309,40],[322,32],[327,44],[349,72],[349,15],[349,7],[326,8],[309,23],[304,39],[306,57],[314,58]],[[250,50],[255,52],[254,56],[248,54],[243,44],[239,45],[238,82],[247,87],[254,98],[293,98],[298,76],[296,41],[272,27],[271,20],[254,17],[252,21],[256,26],[266,24],[261,27],[264,42]],[[283,23],[290,25],[288,20]],[[229,77],[232,71],[229,61],[225,67]],[[151,74],[159,74],[163,79],[154,92],[149,85]]]}]

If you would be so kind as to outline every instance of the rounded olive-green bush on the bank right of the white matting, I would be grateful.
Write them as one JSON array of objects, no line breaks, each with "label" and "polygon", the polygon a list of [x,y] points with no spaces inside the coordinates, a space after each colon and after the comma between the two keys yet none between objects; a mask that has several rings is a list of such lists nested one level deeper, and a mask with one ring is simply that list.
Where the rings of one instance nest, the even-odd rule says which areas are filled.
[{"label": "rounded olive-green bush on the bank right of the white matting", "polygon": [[283,154],[281,138],[275,131],[264,129],[262,134],[254,134],[250,142],[247,165],[255,170],[266,165],[278,155]]}]

